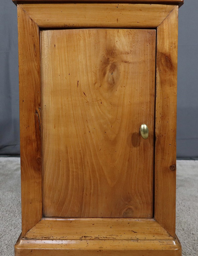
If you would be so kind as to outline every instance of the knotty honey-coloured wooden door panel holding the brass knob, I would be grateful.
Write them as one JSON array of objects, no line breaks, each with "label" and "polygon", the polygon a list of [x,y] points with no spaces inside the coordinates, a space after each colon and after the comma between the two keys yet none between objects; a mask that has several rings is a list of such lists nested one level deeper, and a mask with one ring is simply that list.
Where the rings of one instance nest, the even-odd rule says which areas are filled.
[{"label": "knotty honey-coloured wooden door panel holding the brass knob", "polygon": [[41,31],[44,216],[152,217],[155,45],[150,29]]}]

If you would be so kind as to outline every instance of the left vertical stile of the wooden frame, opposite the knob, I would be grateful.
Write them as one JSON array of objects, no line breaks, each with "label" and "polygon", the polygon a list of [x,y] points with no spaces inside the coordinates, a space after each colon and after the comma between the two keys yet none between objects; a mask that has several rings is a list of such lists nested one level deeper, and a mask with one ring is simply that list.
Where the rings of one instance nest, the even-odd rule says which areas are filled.
[{"label": "left vertical stile of the wooden frame, opposite the knob", "polygon": [[39,28],[18,6],[22,235],[42,218]]}]

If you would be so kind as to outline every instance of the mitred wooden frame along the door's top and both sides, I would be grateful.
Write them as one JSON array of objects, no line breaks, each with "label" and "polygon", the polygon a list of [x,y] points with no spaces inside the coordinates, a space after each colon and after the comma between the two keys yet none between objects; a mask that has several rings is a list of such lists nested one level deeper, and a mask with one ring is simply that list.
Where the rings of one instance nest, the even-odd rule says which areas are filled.
[{"label": "mitred wooden frame along the door's top and both sides", "polygon": [[156,29],[153,220],[175,239],[178,3],[18,4],[17,10],[21,237],[47,219],[42,214],[40,30],[150,28]]}]

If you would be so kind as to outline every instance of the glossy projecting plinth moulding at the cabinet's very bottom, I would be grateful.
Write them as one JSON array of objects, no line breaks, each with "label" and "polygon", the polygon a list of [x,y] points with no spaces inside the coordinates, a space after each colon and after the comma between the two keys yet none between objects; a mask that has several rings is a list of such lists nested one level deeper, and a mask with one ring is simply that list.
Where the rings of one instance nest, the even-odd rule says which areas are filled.
[{"label": "glossy projecting plinth moulding at the cabinet's very bottom", "polygon": [[15,256],[181,256],[181,245],[172,240],[20,240]]}]

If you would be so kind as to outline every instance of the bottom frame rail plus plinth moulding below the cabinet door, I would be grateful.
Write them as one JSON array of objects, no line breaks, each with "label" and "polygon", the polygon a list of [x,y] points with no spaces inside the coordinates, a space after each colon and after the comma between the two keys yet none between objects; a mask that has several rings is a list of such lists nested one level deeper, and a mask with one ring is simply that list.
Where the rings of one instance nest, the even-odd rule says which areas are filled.
[{"label": "bottom frame rail plus plinth moulding below the cabinet door", "polygon": [[43,218],[15,245],[29,255],[181,256],[181,245],[152,218]]}]

